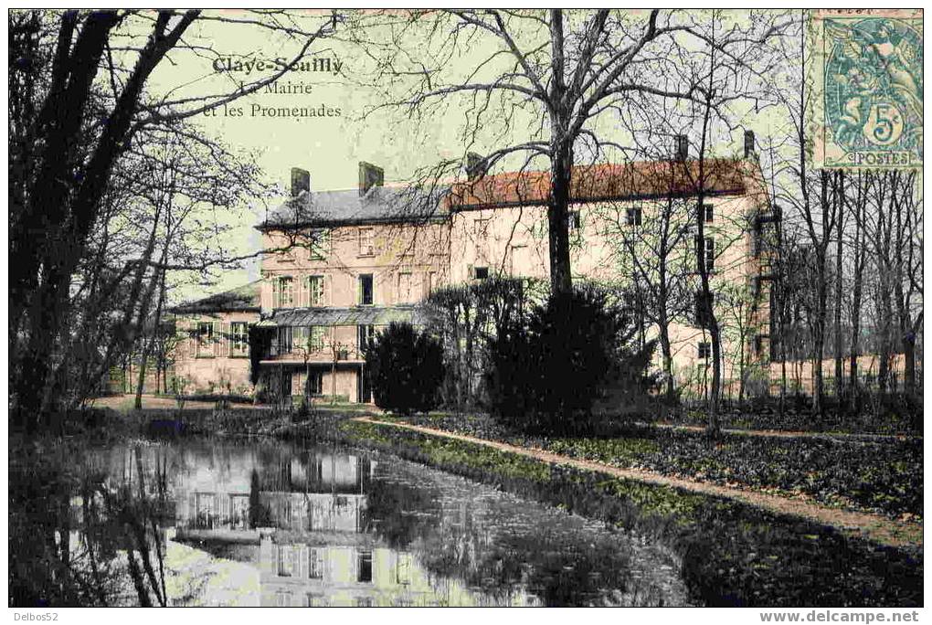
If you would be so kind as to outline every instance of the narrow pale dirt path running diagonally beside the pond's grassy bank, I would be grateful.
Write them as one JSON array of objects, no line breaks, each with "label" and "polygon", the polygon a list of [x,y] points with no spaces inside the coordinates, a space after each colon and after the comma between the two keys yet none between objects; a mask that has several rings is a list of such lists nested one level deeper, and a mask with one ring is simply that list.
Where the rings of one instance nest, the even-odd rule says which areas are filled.
[{"label": "narrow pale dirt path running diagonally beside the pond's grassy bank", "polygon": [[525,455],[542,460],[544,462],[567,465],[577,469],[608,473],[615,477],[624,478],[627,480],[637,480],[638,482],[673,486],[683,490],[692,491],[694,493],[705,493],[706,495],[729,497],[731,499],[736,499],[738,501],[747,503],[751,506],[756,506],[763,510],[770,510],[781,514],[789,514],[815,521],[817,523],[830,525],[841,530],[848,536],[867,538],[883,545],[890,545],[894,547],[918,547],[920,549],[923,547],[923,526],[920,523],[904,523],[902,521],[890,519],[880,514],[869,514],[866,512],[855,512],[851,510],[829,508],[827,506],[814,503],[812,500],[802,496],[794,498],[775,496],[749,489],[746,490],[742,488],[720,486],[719,484],[708,482],[694,482],[692,480],[670,477],[660,473],[641,469],[619,469],[617,467],[611,467],[610,465],[606,465],[600,462],[594,462],[592,460],[581,460],[578,458],[569,457],[567,455],[554,454],[542,449],[518,447],[506,442],[488,441],[486,439],[479,439],[473,436],[467,436],[465,434],[446,432],[440,429],[424,428],[422,426],[413,426],[405,423],[379,421],[367,416],[356,417],[356,420],[366,423],[389,426],[392,428],[409,429],[412,431],[421,432],[422,434],[430,434],[432,436],[439,436],[447,439],[455,439],[463,442],[473,442],[475,444],[485,445],[487,447],[492,447],[493,449],[498,449],[503,452]]}]

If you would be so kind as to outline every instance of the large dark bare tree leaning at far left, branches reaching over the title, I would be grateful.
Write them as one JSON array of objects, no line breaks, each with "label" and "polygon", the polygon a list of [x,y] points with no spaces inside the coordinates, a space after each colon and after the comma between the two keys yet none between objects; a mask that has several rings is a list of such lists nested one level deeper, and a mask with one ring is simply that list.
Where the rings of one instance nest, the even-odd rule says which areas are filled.
[{"label": "large dark bare tree leaning at far left, branches reaching over the title", "polygon": [[[10,325],[11,389],[23,423],[48,406],[69,282],[85,258],[118,162],[147,129],[212,110],[274,82],[295,66],[336,19],[302,24],[281,11],[252,15],[197,10],[34,11],[11,16]],[[265,28],[296,51],[281,71],[213,93],[150,94],[146,84],[172,54],[216,59],[197,29],[210,22]],[[43,60],[48,60],[44,63]]]}]

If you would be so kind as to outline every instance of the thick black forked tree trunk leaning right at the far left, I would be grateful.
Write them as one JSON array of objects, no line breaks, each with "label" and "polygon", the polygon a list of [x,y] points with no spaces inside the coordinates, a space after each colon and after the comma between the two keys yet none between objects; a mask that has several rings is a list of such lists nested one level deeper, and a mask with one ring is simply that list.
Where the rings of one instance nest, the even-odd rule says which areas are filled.
[{"label": "thick black forked tree trunk leaning right at the far left", "polygon": [[[197,12],[187,11],[171,32],[167,33],[165,29],[172,15],[169,12],[158,14],[153,36],[141,50],[125,88],[104,120],[101,136],[92,146],[87,165],[79,172],[79,177],[75,176],[74,159],[71,156],[75,146],[80,144],[84,111],[108,35],[122,18],[117,11],[91,13],[70,57],[70,34],[64,46],[60,37],[56,63],[62,61],[63,67],[53,67],[53,75],[62,71],[70,75],[67,76],[66,88],[53,88],[40,114],[40,124],[48,125],[48,132],[44,135],[48,147],[43,167],[31,183],[26,210],[27,214],[31,213],[34,220],[40,222],[40,227],[31,228],[29,220],[21,224],[21,231],[16,233],[16,253],[11,256],[10,263],[19,269],[12,280],[14,292],[18,294],[15,299],[33,295],[30,334],[21,367],[22,379],[15,385],[19,410],[32,421],[33,427],[41,418],[42,401],[45,398],[43,390],[49,382],[53,351],[66,317],[69,282],[87,247],[88,234],[99,214],[110,171],[117,157],[127,147],[124,140],[130,130],[145,81],[196,16]],[[66,30],[65,23],[66,20],[62,20],[62,33]],[[75,179],[79,182],[64,182]],[[57,212],[50,214],[48,211]],[[48,236],[48,224],[62,224],[62,227]],[[32,234],[33,231],[40,234]],[[36,238],[38,240],[34,240]],[[41,251],[41,255],[37,251]],[[18,256],[23,256],[22,262],[14,258]],[[36,281],[38,275],[42,279]],[[41,286],[36,288],[37,285]],[[19,312],[17,310],[17,314]]]}]

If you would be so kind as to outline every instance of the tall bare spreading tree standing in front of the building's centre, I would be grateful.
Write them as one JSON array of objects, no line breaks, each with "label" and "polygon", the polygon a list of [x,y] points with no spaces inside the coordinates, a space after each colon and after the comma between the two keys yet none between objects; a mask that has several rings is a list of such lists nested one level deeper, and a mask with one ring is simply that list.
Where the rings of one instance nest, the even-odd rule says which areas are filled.
[{"label": "tall bare spreading tree standing in front of the building's centre", "polygon": [[[550,279],[553,291],[563,292],[571,286],[567,221],[577,152],[621,147],[598,135],[596,118],[624,109],[632,93],[692,94],[692,85],[651,81],[677,45],[673,35],[690,33],[679,17],[659,10],[413,11],[364,16],[349,33],[376,66],[367,83],[385,93],[370,114],[400,109],[422,119],[465,102],[467,150],[476,143],[497,146],[473,169],[486,172],[521,157],[520,170],[549,164]],[[379,36],[386,32],[391,35]],[[482,50],[478,59],[476,50]],[[471,69],[451,71],[459,62]],[[452,177],[460,166],[461,159],[445,161],[432,166],[431,177]]]}]

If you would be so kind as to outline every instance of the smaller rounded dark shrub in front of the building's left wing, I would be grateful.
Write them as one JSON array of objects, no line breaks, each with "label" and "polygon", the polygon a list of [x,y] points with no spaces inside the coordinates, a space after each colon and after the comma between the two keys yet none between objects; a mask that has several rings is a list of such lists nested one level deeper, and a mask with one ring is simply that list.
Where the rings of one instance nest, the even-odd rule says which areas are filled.
[{"label": "smaller rounded dark shrub in front of the building's left wing", "polygon": [[444,380],[440,342],[410,323],[391,323],[365,350],[365,369],[376,405],[402,414],[437,406]]}]

